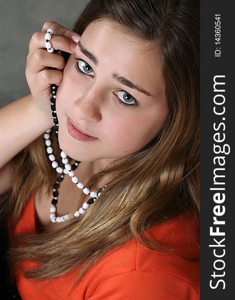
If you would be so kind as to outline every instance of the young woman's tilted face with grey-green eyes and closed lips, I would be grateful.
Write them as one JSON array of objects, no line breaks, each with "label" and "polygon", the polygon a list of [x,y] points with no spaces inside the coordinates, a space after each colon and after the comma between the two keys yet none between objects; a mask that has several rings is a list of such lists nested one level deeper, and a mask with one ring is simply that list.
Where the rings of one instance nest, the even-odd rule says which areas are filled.
[{"label": "young woman's tilted face with grey-green eyes and closed lips", "polygon": [[[159,54],[108,20],[90,23],[78,43],[56,95],[59,144],[79,161],[131,154],[160,131],[168,114]],[[96,138],[78,140],[70,121]]]}]

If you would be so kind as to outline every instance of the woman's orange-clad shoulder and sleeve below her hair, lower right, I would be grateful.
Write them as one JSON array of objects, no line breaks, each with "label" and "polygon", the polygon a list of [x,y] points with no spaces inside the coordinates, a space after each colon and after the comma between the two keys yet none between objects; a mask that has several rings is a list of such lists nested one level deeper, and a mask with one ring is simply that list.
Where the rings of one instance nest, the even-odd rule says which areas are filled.
[{"label": "woman's orange-clad shoulder and sleeve below her hair, lower right", "polygon": [[[182,222],[184,226],[181,226]],[[175,244],[182,250],[182,254],[188,254],[195,259],[199,255],[194,249],[195,246],[185,239],[185,235],[181,235],[184,233],[182,229],[185,228],[185,222],[187,216],[182,215],[167,223],[156,225],[150,228],[149,236],[153,237],[156,234],[159,240]],[[90,291],[93,290],[87,298],[90,300],[137,300],[156,297],[159,300],[194,300],[199,299],[199,262],[185,260],[175,254],[150,250],[132,238],[104,254],[88,270],[82,282],[84,285],[89,282]]]}]

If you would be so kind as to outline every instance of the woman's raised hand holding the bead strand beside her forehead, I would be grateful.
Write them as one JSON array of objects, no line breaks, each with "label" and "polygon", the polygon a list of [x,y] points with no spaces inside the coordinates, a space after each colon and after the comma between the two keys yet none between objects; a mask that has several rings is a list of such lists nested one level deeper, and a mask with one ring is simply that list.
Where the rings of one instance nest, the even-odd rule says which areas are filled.
[{"label": "woman's raised hand holding the bead strand beside her forehead", "polygon": [[[30,39],[25,76],[35,108],[36,110],[39,109],[43,117],[48,120],[49,128],[49,126],[53,126],[50,110],[50,84],[55,83],[59,85],[61,82],[65,61],[61,55],[49,53],[46,50],[44,35],[48,28],[54,29],[56,32],[56,34],[51,35],[52,47],[68,53],[74,53],[80,35],[56,22],[46,21],[42,26],[41,32],[33,33]],[[50,69],[50,67],[56,69]]]}]

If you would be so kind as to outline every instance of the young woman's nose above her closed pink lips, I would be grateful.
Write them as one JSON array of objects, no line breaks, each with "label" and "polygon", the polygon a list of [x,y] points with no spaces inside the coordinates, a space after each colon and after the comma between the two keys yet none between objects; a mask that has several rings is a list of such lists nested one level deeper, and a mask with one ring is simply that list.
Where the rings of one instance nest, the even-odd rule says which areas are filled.
[{"label": "young woman's nose above her closed pink lips", "polygon": [[76,116],[80,120],[98,122],[101,119],[101,95],[95,90],[86,90],[74,102]]}]

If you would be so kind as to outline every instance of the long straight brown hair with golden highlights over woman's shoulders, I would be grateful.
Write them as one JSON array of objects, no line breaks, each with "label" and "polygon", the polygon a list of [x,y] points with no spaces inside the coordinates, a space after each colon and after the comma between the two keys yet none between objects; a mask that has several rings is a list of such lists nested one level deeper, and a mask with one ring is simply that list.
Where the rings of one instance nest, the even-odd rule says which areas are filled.
[{"label": "long straight brown hair with golden highlights over woman's shoulders", "polygon": [[[81,35],[90,22],[102,18],[160,50],[169,113],[153,140],[89,180],[87,187],[102,175],[111,175],[107,187],[83,217],[63,223],[56,232],[13,238],[8,252],[12,269],[21,260],[39,262],[37,268],[25,272],[30,278],[53,278],[80,265],[79,280],[105,252],[131,237],[160,250],[162,245],[151,240],[145,230],[165,219],[187,211],[198,222],[199,2],[90,0],[73,30]],[[42,184],[51,192],[56,178],[42,136],[16,155],[15,166],[16,179],[7,210],[12,225],[28,197]]]}]

